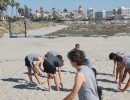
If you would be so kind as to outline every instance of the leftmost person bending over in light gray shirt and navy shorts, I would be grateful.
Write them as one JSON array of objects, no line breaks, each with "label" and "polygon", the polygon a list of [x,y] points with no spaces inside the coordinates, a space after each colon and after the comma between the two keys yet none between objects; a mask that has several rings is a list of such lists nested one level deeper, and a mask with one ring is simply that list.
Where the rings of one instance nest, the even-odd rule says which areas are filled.
[{"label": "leftmost person bending over in light gray shirt and navy shorts", "polygon": [[[35,61],[36,63],[34,64]],[[41,75],[41,70],[43,71],[43,69],[41,68],[41,64],[43,63],[43,61],[44,61],[44,58],[39,53],[30,53],[25,57],[25,65],[27,66],[27,69],[28,69],[28,77],[29,77],[30,83],[34,83],[32,80],[32,73],[31,73],[32,70],[34,72],[34,76],[36,80],[38,81],[38,83],[39,84],[44,83],[44,82],[41,82],[38,77],[38,75]]]}]

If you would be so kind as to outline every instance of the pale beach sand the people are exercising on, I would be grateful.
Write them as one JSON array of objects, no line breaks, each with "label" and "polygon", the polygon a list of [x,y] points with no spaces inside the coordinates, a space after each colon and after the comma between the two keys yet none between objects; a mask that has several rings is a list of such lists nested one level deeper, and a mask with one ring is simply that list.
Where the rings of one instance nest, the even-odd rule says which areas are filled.
[{"label": "pale beach sand the people are exercising on", "polygon": [[[79,43],[88,58],[96,60],[98,85],[103,91],[103,100],[130,100],[130,88],[117,92],[115,77],[112,76],[113,61],[110,52],[130,52],[130,37],[61,37],[47,38],[1,38],[0,39],[0,100],[63,100],[74,84],[76,70],[70,65],[67,53]],[[55,90],[52,80],[52,91],[48,92],[47,82],[43,85],[28,85],[27,68],[24,58],[31,52],[43,55],[48,50],[56,50],[63,55],[64,66],[61,68],[64,89]],[[33,76],[34,81],[35,78]],[[46,73],[41,80],[46,81]],[[128,77],[125,80],[127,82]],[[124,86],[124,85],[122,85]],[[76,97],[75,100],[78,100]]]}]

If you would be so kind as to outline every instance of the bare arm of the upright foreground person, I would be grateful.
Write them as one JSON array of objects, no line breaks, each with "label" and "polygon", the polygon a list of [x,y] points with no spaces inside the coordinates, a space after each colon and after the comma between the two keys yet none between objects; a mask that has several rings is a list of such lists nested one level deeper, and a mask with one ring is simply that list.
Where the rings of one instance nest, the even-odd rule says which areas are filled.
[{"label": "bare arm of the upright foreground person", "polygon": [[64,100],[73,100],[75,96],[78,94],[80,87],[82,86],[83,82],[85,81],[85,77],[82,73],[77,73],[75,77],[75,83],[72,92],[65,97]]}]

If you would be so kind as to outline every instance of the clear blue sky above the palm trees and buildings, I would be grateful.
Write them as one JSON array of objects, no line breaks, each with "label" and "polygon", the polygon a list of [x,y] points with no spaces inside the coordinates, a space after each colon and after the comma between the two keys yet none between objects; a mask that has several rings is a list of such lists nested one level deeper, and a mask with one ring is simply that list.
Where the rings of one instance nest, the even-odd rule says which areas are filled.
[{"label": "clear blue sky above the palm trees and buildings", "polygon": [[[77,10],[79,5],[82,5],[84,12],[89,7],[94,8],[95,11],[112,10],[118,7],[130,8],[130,0],[15,0],[21,4],[21,7],[27,5],[32,8],[33,12],[39,9],[40,6],[44,10],[51,11],[53,7],[56,10],[63,10],[67,8],[68,11]],[[9,9],[11,9],[9,7]],[[9,10],[10,12],[10,10]]]}]

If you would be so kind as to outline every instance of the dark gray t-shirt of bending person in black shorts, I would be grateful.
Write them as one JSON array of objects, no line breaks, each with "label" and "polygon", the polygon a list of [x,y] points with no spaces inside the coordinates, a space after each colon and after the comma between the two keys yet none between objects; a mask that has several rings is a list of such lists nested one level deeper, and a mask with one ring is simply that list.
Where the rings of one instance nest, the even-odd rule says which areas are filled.
[{"label": "dark gray t-shirt of bending person in black shorts", "polygon": [[60,59],[56,56],[48,57],[47,61],[53,66],[53,67],[61,67],[62,62]]}]

